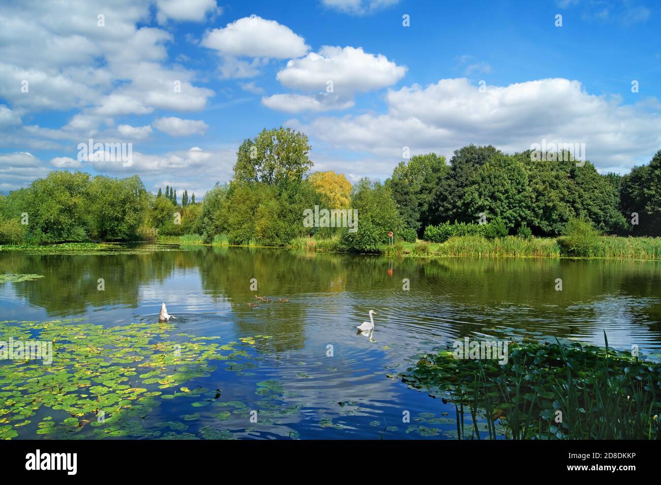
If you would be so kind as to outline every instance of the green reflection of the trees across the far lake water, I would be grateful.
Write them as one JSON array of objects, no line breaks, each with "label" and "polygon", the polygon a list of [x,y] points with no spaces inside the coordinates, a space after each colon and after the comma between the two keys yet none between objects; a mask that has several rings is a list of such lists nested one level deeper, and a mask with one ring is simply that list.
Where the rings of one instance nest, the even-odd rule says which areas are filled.
[{"label": "green reflection of the trees across the far lake water", "polygon": [[[561,337],[594,333],[609,311],[633,325],[646,325],[650,339],[661,335],[661,263],[652,261],[393,259],[191,246],[112,255],[0,253],[0,267],[3,273],[44,275],[13,288],[30,304],[58,316],[81,313],[89,306],[136,307],[141,285],[164,282],[175,270],[194,269],[212,301],[229,302],[239,331],[278,335],[273,343],[281,350],[303,345],[312,296],[340,293],[347,302],[369,301],[392,315],[414,317],[420,325],[438,325],[443,312],[442,319],[451,320],[454,331],[464,335],[485,325],[502,325],[501,320],[516,321],[516,327],[541,322]],[[97,290],[98,278],[104,278],[105,291]],[[250,289],[251,278],[257,280],[256,292]],[[410,280],[410,292],[402,291],[402,278]],[[556,278],[562,278],[563,291],[555,290]],[[273,301],[252,309],[249,302],[260,303],[255,294]],[[278,298],[290,302],[281,304]],[[513,316],[516,311],[520,315]]]}]

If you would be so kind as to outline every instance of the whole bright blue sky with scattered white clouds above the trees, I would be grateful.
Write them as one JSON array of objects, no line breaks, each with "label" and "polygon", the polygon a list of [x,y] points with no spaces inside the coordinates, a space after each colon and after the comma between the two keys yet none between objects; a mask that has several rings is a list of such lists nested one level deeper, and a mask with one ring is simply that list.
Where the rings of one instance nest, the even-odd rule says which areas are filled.
[{"label": "whole bright blue sky with scattered white clouds above the trees", "polygon": [[[5,2],[0,192],[63,169],[199,198],[280,125],[352,181],[405,147],[543,139],[625,173],[661,148],[660,21],[634,0]],[[132,143],[131,165],[79,160],[88,139]]]}]

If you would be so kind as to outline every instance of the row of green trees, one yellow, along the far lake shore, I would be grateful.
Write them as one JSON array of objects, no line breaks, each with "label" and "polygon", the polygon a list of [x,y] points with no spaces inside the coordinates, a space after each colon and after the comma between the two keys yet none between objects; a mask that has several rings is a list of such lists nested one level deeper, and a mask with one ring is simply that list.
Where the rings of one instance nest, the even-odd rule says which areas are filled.
[{"label": "row of green trees, one yellow, along the far lake shore", "polygon": [[[557,236],[578,218],[604,234],[661,235],[661,150],[619,176],[562,154],[469,145],[449,163],[434,153],[416,155],[383,183],[363,178],[353,185],[343,174],[311,173],[310,150],[303,133],[264,129],[239,146],[233,179],[216,183],[202,203],[185,190],[179,200],[170,186],[153,195],[138,176],[51,172],[0,196],[0,243],[140,240],[159,228],[206,242],[289,245],[315,236],[336,241],[337,249],[377,251],[389,231],[414,241],[428,226],[475,224],[480,217],[504,234]],[[358,209],[358,231],[306,228],[303,211],[315,206]]]}]

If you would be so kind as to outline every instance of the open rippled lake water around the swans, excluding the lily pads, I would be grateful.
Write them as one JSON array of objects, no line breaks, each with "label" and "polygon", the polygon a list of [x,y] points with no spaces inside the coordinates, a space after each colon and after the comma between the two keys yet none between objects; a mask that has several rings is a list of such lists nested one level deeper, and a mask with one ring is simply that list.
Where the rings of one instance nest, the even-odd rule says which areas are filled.
[{"label": "open rippled lake water around the swans, excluding the lily pads", "polygon": [[[0,273],[45,276],[0,284],[0,320],[82,318],[114,327],[157,321],[163,301],[179,318],[172,334],[219,336],[221,342],[272,337],[257,339],[241,362],[216,362],[210,375],[186,383],[190,389],[219,389],[220,399],[209,398],[216,405],[163,400],[141,419],[147,430],[163,430],[159,422],[184,422],[179,416],[197,412],[197,419],[174,432],[199,437],[200,428],[212,426],[225,437],[257,439],[452,437],[453,406],[387,375],[457,338],[550,335],[603,344],[605,330],[611,346],[637,344],[644,354],[661,353],[659,263],[136,249],[109,255],[0,253]],[[104,291],[97,290],[98,278],[104,278]],[[257,291],[251,291],[251,278]],[[403,278],[410,280],[409,291]],[[555,290],[556,278],[562,278],[563,291]],[[255,294],[273,301],[250,307]],[[369,309],[376,312],[375,342],[356,335],[355,325],[369,319]],[[245,412],[233,412],[236,403],[273,410],[260,392],[265,381],[278,412],[256,423]],[[231,416],[219,421],[215,416],[223,410]],[[40,413],[67,417],[48,411]],[[403,422],[403,411],[410,412],[410,423]],[[40,437],[35,426],[20,428],[19,437]]]}]

